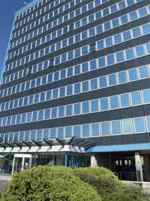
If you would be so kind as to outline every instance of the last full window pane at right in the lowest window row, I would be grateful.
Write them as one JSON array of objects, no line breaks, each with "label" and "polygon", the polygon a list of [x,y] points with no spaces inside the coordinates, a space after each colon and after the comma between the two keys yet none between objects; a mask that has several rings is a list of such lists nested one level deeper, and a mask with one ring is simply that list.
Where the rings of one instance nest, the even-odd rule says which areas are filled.
[{"label": "last full window pane at right in the lowest window row", "polygon": [[144,119],[144,117],[135,118],[134,123],[135,123],[135,131],[136,131],[136,133],[145,132],[146,128],[145,128],[145,119]]}]

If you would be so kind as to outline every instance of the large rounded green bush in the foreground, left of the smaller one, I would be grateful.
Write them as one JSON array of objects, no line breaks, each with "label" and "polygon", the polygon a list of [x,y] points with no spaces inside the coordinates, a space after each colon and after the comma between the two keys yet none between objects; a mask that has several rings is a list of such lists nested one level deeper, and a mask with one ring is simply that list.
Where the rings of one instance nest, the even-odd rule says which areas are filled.
[{"label": "large rounded green bush in the foreground, left of the smaller one", "polygon": [[2,197],[2,201],[101,201],[71,169],[48,166],[16,174]]}]

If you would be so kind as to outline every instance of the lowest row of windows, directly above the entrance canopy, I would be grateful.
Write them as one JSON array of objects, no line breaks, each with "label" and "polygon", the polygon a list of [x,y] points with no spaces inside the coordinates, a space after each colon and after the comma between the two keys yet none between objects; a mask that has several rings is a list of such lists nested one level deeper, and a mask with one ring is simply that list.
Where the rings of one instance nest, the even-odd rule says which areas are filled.
[{"label": "lowest row of windows, directly above the entrance canopy", "polygon": [[65,127],[1,133],[3,142],[43,141],[44,139],[67,139],[128,135],[150,132],[150,116],[78,124]]}]

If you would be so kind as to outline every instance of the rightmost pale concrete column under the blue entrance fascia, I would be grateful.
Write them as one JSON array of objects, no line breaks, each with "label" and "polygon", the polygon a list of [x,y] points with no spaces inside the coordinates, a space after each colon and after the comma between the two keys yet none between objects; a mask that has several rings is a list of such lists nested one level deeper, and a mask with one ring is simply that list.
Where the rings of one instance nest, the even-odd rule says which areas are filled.
[{"label": "rightmost pale concrete column under the blue entrance fascia", "polygon": [[143,181],[143,160],[138,152],[135,153],[135,167],[137,181]]}]

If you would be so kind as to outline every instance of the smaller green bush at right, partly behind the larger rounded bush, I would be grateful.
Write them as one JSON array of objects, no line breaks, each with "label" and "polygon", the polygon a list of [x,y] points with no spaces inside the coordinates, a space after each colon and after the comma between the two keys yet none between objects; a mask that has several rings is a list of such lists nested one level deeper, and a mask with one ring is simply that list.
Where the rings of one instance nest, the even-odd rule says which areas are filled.
[{"label": "smaller green bush at right, partly behind the larger rounded bush", "polygon": [[140,188],[128,187],[105,168],[79,168],[74,174],[92,185],[103,201],[144,201]]}]

